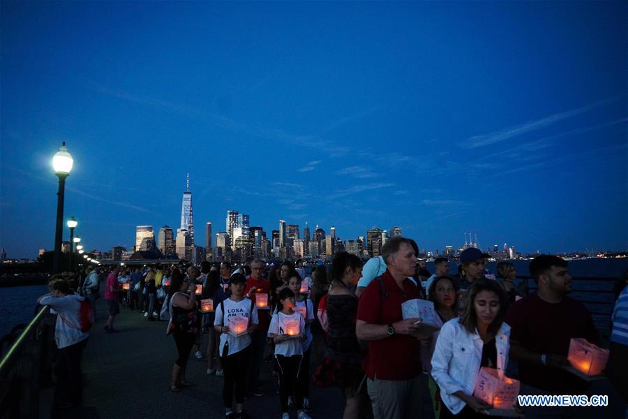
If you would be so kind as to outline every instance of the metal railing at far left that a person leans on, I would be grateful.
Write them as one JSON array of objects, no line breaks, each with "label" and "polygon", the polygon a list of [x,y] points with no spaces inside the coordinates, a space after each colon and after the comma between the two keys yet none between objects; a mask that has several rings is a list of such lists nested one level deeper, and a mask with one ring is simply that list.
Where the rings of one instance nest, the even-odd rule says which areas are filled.
[{"label": "metal railing at far left that a person leans on", "polygon": [[55,321],[42,307],[0,360],[1,418],[38,418],[40,388],[52,377]]}]

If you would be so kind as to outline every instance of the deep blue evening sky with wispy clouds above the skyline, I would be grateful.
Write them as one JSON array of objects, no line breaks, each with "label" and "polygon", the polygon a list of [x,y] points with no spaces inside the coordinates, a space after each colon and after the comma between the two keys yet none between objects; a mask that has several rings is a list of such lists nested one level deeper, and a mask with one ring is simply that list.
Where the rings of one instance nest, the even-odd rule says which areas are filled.
[{"label": "deep blue evening sky with wispy clouds above the skyline", "polygon": [[[1,3],[0,246],[179,226],[401,226],[628,249],[628,3]],[[66,228],[65,237],[69,232]]]}]

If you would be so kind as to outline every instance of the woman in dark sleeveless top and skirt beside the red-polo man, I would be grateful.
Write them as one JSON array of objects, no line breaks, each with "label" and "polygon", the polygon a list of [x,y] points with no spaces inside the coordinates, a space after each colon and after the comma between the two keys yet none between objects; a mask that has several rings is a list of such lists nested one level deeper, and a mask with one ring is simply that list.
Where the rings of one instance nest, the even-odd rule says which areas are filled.
[{"label": "woman in dark sleeveless top and skirt beside the red-polo man", "polygon": [[364,351],[355,334],[358,298],[350,288],[357,284],[361,273],[360,258],[345,251],[336,254],[331,264],[331,285],[327,294],[327,353],[314,373],[316,385],[341,388],[346,403],[344,419],[364,417],[368,405],[361,367]]}]

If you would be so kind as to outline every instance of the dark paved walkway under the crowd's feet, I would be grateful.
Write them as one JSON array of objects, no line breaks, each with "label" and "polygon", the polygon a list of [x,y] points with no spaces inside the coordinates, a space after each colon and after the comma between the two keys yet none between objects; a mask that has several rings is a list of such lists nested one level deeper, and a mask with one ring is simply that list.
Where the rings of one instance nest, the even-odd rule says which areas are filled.
[{"label": "dark paved walkway under the crowd's feet", "polygon": [[[207,360],[190,357],[187,378],[197,383],[178,393],[169,389],[172,364],[177,357],[174,339],[165,335],[165,322],[149,322],[138,311],[121,308],[115,328],[119,333],[103,331],[107,306],[96,302],[98,321],[84,351],[84,406],[56,412],[52,418],[224,418],[223,378],[207,376]],[[207,340],[205,341],[207,344]],[[204,348],[202,349],[204,351]],[[246,399],[244,409],[255,419],[280,418],[276,378],[271,365],[262,367],[262,397]],[[593,384],[590,394],[608,395],[610,406],[577,408],[578,418],[622,418],[625,411],[618,393],[608,380]],[[50,398],[50,397],[48,397]],[[342,418],[343,399],[335,388],[311,386],[310,412],[315,419]],[[433,418],[428,392],[425,392],[424,418]],[[46,417],[42,412],[42,417]],[[544,409],[544,413],[548,413]],[[296,412],[291,412],[296,418]],[[526,418],[538,417],[528,409]]]}]

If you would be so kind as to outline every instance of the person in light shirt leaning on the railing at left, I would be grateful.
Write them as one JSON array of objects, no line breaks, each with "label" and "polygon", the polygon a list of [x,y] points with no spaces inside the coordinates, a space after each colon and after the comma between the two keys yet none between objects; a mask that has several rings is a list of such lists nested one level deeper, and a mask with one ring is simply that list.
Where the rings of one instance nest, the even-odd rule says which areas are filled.
[{"label": "person in light shirt leaning on the railing at left", "polygon": [[48,283],[50,293],[37,302],[50,306],[57,312],[54,340],[59,348],[54,361],[57,386],[54,389],[54,406],[67,409],[82,401],[81,358],[89,333],[81,330],[81,301],[84,297],[74,293],[65,279],[53,279]]}]

